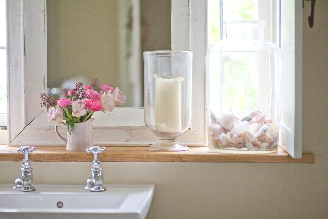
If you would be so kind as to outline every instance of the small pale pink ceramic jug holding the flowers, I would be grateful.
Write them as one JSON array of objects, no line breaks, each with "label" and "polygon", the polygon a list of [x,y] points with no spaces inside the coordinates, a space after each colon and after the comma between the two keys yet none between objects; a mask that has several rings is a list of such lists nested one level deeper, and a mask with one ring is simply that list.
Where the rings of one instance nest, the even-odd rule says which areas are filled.
[{"label": "small pale pink ceramic jug holding the flowers", "polygon": [[[67,132],[67,138],[64,138],[58,133],[57,124],[55,125],[55,131],[58,136],[63,139],[66,143],[67,151],[86,151],[87,148],[93,146],[93,136],[92,136],[92,122],[93,118],[88,119],[85,122],[74,123],[71,134]],[[61,122],[65,125],[64,122]],[[66,126],[66,125],[65,125]]]}]

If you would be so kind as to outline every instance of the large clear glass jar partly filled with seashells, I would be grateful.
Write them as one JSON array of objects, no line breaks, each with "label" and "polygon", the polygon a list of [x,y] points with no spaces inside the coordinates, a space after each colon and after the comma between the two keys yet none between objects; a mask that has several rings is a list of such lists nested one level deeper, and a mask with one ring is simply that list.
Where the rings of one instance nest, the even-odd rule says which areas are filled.
[{"label": "large clear glass jar partly filled with seashells", "polygon": [[225,21],[206,53],[208,147],[226,153],[278,149],[280,48],[263,40],[261,20]]}]

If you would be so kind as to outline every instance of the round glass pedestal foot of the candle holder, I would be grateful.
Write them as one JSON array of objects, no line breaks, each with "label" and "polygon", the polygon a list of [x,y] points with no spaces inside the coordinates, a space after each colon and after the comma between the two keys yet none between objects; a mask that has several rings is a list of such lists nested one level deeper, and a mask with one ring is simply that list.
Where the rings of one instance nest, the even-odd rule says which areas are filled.
[{"label": "round glass pedestal foot of the candle holder", "polygon": [[159,139],[156,144],[148,147],[149,151],[188,151],[189,147],[177,142],[177,138]]}]

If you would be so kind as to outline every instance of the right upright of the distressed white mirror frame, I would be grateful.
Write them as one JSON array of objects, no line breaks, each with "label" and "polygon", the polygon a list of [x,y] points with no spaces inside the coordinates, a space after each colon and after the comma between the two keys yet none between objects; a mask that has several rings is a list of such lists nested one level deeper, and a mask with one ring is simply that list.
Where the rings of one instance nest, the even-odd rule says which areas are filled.
[{"label": "right upright of the distressed white mirror frame", "polygon": [[193,52],[191,130],[203,142],[206,142],[205,53],[207,49],[207,1],[172,0],[171,13],[172,50],[189,50]]}]

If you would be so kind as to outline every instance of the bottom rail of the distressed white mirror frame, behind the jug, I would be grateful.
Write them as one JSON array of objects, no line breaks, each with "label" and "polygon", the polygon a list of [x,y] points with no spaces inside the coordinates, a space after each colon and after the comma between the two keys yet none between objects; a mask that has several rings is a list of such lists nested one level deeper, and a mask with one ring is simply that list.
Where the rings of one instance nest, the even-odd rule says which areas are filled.
[{"label": "bottom rail of the distressed white mirror frame, behind the jug", "polygon": [[[11,141],[10,145],[65,146],[54,131],[55,123],[46,122],[46,115],[47,112],[44,110]],[[157,141],[157,138],[145,128],[142,108],[115,108],[112,113],[96,112],[93,118],[93,138],[97,145],[140,146],[154,144]],[[65,127],[60,126],[59,132],[65,136]],[[190,129],[178,137],[178,141],[188,146],[205,146]]]}]

